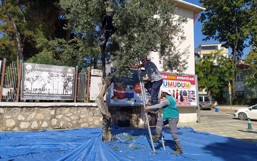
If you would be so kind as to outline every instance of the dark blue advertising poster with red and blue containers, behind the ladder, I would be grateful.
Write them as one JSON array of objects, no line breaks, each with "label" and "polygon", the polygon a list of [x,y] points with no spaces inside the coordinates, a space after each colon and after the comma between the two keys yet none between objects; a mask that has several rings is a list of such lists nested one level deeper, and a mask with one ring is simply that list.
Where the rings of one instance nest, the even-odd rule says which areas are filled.
[{"label": "dark blue advertising poster with red and blue containers, behind the ladder", "polygon": [[[114,68],[110,68],[112,73]],[[108,72],[108,71],[107,71]],[[143,106],[140,81],[137,70],[131,70],[132,75],[118,80],[113,78],[113,82],[108,88],[109,106]],[[145,77],[146,72],[142,72]],[[120,84],[120,85],[119,85]],[[147,100],[150,100],[150,94],[146,91]]]}]

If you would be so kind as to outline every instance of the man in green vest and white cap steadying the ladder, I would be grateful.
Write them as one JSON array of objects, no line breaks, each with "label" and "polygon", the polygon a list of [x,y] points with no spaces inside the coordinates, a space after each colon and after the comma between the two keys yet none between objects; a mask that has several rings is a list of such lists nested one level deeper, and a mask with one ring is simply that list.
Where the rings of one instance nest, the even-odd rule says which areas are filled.
[{"label": "man in green vest and white cap steadying the ladder", "polygon": [[163,118],[159,119],[156,124],[155,135],[151,135],[152,139],[159,142],[161,137],[161,132],[163,126],[169,124],[170,133],[172,138],[175,141],[176,151],[172,152],[173,154],[183,154],[182,146],[180,143],[179,136],[177,134],[177,123],[179,122],[179,112],[177,108],[177,103],[175,98],[171,96],[171,93],[168,89],[161,90],[163,97],[165,98],[163,102],[153,105],[153,106],[146,106],[145,110],[158,110],[163,108]]}]

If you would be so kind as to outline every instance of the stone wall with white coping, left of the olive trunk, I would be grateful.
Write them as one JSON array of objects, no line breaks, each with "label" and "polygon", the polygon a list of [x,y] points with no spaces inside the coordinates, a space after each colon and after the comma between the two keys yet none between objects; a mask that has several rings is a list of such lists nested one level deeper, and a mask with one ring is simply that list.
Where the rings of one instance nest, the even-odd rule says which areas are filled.
[{"label": "stone wall with white coping, left of the olive trunk", "polygon": [[102,118],[96,103],[4,102],[0,106],[0,131],[98,127]]}]

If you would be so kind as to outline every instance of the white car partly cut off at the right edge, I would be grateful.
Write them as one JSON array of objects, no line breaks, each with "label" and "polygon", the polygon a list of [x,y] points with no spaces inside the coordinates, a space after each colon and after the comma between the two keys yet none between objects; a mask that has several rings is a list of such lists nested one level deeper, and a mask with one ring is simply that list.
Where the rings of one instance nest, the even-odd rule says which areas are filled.
[{"label": "white car partly cut off at the right edge", "polygon": [[257,119],[257,105],[235,110],[234,117],[238,117],[240,120]]}]

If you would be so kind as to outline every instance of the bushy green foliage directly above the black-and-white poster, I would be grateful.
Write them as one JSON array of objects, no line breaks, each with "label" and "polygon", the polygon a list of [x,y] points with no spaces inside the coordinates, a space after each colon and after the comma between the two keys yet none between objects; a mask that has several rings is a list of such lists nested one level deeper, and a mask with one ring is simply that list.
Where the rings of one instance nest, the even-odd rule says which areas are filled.
[{"label": "bushy green foliage directly above the black-and-white poster", "polygon": [[80,34],[68,42],[58,38],[37,39],[36,47],[42,51],[26,62],[61,66],[76,66],[79,63],[79,68],[91,66],[91,59],[98,58],[100,53],[91,40],[91,35],[80,37]]}]

